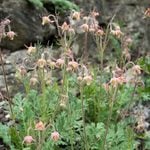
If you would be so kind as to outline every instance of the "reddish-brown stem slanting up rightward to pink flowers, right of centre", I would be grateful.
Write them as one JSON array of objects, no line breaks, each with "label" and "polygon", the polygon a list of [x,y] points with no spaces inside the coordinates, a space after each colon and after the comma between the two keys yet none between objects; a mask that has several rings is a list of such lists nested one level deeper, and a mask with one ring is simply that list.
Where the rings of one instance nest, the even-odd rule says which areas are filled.
[{"label": "reddish-brown stem slanting up rightward to pink flowers, right of centre", "polygon": [[115,87],[114,94],[113,94],[111,102],[110,102],[109,116],[108,116],[108,119],[107,119],[106,131],[105,131],[105,135],[104,135],[103,150],[107,150],[107,145],[106,145],[106,143],[107,143],[107,135],[108,135],[108,131],[109,131],[109,125],[110,125],[110,121],[111,121],[111,117],[112,117],[113,106],[114,106],[114,101],[116,99],[117,90],[118,90],[118,86]]}]

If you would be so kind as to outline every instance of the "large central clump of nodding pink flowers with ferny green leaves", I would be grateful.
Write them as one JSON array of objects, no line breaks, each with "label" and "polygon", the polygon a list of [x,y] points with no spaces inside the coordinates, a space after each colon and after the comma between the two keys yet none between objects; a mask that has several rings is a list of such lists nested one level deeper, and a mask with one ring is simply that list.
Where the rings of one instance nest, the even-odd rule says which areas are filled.
[{"label": "large central clump of nodding pink flowers with ferny green leaves", "polygon": [[[106,30],[99,27],[98,15],[94,11],[89,16],[72,12],[71,23],[62,25],[54,15],[42,18],[42,25],[56,23],[62,53],[54,58],[49,49],[27,47],[28,57],[16,72],[25,92],[13,99],[16,122],[9,133],[15,149],[137,149],[134,118],[124,112],[136,100],[142,70],[131,61],[130,37],[113,19]],[[96,42],[101,63],[97,67],[87,65],[86,48],[86,64],[74,57],[76,35],[86,37],[87,33]],[[112,36],[121,42],[121,60],[105,67],[104,53]]]}]

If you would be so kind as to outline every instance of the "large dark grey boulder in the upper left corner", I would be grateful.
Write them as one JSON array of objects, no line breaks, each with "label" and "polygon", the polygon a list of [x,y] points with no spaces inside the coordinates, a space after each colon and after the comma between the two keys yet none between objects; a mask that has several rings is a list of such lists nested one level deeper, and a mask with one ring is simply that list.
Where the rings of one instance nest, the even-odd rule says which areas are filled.
[{"label": "large dark grey boulder in the upper left corner", "polygon": [[13,41],[5,38],[0,46],[11,51],[24,47],[24,44],[43,41],[55,34],[55,27],[41,25],[41,17],[49,14],[46,9],[38,9],[27,0],[0,0],[0,20],[8,17],[11,29],[17,36]]}]

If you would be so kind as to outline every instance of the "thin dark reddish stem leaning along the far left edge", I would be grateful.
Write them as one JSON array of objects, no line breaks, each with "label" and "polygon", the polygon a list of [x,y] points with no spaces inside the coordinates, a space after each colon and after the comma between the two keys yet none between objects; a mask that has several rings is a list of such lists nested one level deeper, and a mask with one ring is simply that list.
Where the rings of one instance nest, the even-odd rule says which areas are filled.
[{"label": "thin dark reddish stem leaning along the far left edge", "polygon": [[2,51],[1,51],[1,49],[0,49],[0,61],[1,61],[1,64],[2,64],[2,71],[3,71],[5,86],[6,86],[7,101],[8,101],[8,104],[9,104],[11,115],[13,117],[14,115],[13,115],[13,109],[12,109],[12,102],[11,102],[11,97],[10,97],[10,94],[9,94],[9,89],[8,89],[8,84],[7,84],[5,67],[4,67],[4,62],[3,62],[3,58],[2,58]]}]

